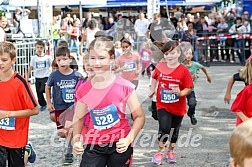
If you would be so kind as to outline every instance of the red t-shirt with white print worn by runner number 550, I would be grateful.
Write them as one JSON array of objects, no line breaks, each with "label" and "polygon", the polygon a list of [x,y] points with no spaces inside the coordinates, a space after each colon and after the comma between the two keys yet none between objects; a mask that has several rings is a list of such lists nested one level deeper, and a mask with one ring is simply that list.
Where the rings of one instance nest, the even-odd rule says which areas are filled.
[{"label": "red t-shirt with white print worn by runner number 550", "polygon": [[186,96],[178,97],[171,92],[173,87],[180,90],[193,87],[189,70],[180,64],[176,69],[170,69],[166,62],[159,63],[152,75],[158,81],[157,109],[165,109],[174,115],[183,116],[187,113]]}]

